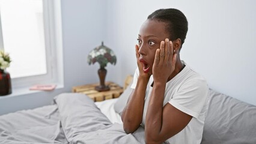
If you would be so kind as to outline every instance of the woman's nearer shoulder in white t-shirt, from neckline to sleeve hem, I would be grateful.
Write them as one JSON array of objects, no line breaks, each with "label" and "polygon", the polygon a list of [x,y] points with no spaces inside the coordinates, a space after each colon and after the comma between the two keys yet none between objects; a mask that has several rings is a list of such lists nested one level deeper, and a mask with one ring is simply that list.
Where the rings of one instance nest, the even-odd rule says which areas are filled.
[{"label": "woman's nearer shoulder in white t-shirt, from neckline to sleeve hem", "polygon": [[[186,68],[187,67],[187,68]],[[198,118],[207,103],[209,87],[206,79],[186,65],[182,76],[172,83],[169,103],[177,109]]]}]

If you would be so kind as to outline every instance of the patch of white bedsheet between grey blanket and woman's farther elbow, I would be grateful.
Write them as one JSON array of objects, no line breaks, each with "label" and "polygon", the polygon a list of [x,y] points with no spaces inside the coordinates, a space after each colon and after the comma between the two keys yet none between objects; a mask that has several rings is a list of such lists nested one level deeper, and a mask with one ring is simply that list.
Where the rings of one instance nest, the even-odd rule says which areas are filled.
[{"label": "patch of white bedsheet between grey blanket and woman's farther elbow", "polygon": [[121,116],[115,112],[114,104],[118,100],[118,98],[113,98],[105,101],[97,101],[95,102],[96,106],[99,107],[100,111],[107,116],[107,118],[114,124],[123,124],[121,120]]}]

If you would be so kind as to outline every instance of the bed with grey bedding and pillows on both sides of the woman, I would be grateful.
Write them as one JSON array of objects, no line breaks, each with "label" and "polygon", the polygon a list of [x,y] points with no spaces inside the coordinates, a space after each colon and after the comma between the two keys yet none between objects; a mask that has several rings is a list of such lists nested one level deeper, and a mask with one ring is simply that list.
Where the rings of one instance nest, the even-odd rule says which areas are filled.
[{"label": "bed with grey bedding and pillows on both sides of the woman", "polygon": [[[53,104],[0,116],[0,143],[145,143],[144,128],[123,130],[119,98],[92,101],[84,94],[57,95]],[[202,144],[256,143],[256,106],[210,89]]]}]

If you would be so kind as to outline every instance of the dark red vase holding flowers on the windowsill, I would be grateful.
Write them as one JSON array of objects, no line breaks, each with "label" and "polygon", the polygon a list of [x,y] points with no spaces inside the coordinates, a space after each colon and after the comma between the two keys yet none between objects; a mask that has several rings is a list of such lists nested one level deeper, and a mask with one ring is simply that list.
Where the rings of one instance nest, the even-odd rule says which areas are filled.
[{"label": "dark red vase holding flowers on the windowsill", "polygon": [[0,69],[0,96],[11,94],[10,73]]}]

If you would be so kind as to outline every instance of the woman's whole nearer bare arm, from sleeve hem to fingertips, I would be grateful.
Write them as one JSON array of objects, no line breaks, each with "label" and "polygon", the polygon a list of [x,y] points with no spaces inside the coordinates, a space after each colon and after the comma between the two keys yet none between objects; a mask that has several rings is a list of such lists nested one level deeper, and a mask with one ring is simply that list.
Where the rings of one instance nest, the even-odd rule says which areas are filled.
[{"label": "woman's whole nearer bare arm, from sleeve hem to fingertips", "polygon": [[168,39],[161,42],[156,50],[153,65],[154,86],[148,103],[145,121],[146,143],[162,143],[174,136],[192,119],[192,116],[181,112],[171,104],[163,107],[165,86],[170,74],[174,71],[177,54],[173,56],[172,43]]}]

